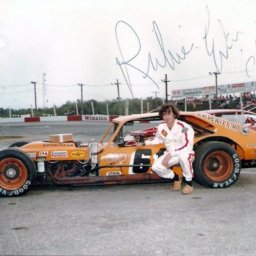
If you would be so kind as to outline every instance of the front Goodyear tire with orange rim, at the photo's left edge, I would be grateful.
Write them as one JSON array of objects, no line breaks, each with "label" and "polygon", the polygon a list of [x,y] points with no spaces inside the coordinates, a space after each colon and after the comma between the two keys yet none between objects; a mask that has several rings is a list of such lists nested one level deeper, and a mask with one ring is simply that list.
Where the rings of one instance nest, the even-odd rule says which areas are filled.
[{"label": "front Goodyear tire with orange rim, at the photo's left edge", "polygon": [[35,182],[36,168],[27,154],[19,149],[0,151],[0,196],[23,195]]}]

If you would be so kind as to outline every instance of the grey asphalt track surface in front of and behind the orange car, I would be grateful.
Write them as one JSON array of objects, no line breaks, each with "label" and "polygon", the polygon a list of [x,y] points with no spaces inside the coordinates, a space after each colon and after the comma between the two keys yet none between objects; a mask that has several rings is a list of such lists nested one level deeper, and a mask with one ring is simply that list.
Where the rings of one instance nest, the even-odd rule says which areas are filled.
[{"label": "grey asphalt track surface in front of and behind the orange car", "polygon": [[[85,143],[108,125],[3,123],[0,147],[55,133]],[[256,169],[243,169],[226,189],[194,183],[191,195],[181,195],[172,185],[40,185],[0,198],[0,255],[255,256]]]}]

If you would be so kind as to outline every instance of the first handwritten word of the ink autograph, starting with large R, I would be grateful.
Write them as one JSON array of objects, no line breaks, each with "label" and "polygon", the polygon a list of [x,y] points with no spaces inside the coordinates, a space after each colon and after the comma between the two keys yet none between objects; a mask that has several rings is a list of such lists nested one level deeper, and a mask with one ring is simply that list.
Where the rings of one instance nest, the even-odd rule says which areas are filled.
[{"label": "first handwritten word of the ink autograph, starting with large R", "polygon": [[[122,49],[120,43],[119,43],[119,35],[118,30],[120,25],[125,25],[129,29],[131,29],[131,32],[134,36],[134,39],[137,40],[138,48],[134,49],[134,55],[130,59],[124,58],[124,49]],[[121,61],[119,61],[118,58],[117,64],[119,65],[121,72],[123,73],[123,77],[125,78],[125,81],[129,87],[129,90],[131,92],[131,95],[133,96],[133,89],[131,85],[131,79],[129,77],[129,68],[137,70],[139,73],[143,75],[144,78],[148,78],[152,81],[153,84],[159,88],[157,83],[154,81],[153,77],[149,74],[149,71],[153,69],[153,71],[157,71],[159,67],[165,68],[169,66],[172,70],[175,70],[175,65],[181,64],[181,61],[185,60],[186,56],[192,51],[194,44],[191,43],[189,45],[189,49],[186,49],[184,46],[181,47],[181,53],[172,53],[171,50],[165,49],[165,44],[163,43],[163,38],[161,36],[161,32],[159,30],[159,27],[155,21],[153,21],[153,32],[155,33],[155,37],[157,39],[157,43],[161,49],[161,57],[155,57],[155,62],[153,61],[153,55],[149,52],[148,53],[148,59],[147,59],[147,70],[143,71],[139,67],[136,67],[133,64],[133,60],[135,60],[136,57],[138,57],[139,53],[141,52],[141,41],[139,40],[139,36],[137,35],[135,29],[131,27],[128,23],[125,21],[118,21],[115,25],[115,37],[117,39],[117,45],[119,47],[120,55],[121,55]]]}]

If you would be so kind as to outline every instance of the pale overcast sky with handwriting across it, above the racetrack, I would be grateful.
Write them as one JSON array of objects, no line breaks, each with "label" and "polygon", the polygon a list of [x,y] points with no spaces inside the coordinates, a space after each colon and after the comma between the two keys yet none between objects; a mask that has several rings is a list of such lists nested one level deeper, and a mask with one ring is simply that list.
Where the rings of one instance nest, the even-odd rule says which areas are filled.
[{"label": "pale overcast sky with handwriting across it, above the racetrack", "polygon": [[[256,81],[256,1],[0,0],[0,107]],[[43,82],[43,73],[45,81]],[[43,95],[43,83],[45,94]],[[112,84],[111,84],[112,83]]]}]

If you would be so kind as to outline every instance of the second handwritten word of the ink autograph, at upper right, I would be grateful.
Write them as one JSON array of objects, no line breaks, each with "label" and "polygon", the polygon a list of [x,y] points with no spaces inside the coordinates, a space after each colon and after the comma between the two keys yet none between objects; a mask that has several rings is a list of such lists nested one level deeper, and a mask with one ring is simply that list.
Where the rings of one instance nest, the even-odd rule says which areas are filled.
[{"label": "second handwritten word of the ink autograph, at upper right", "polygon": [[[218,71],[218,73],[221,73],[222,67],[223,67],[223,58],[228,59],[229,58],[229,51],[233,48],[233,43],[238,41],[239,34],[242,32],[237,31],[235,38],[231,39],[229,33],[225,32],[225,29],[223,27],[223,24],[219,20],[219,25],[221,26],[222,32],[223,32],[223,37],[225,40],[225,45],[222,50],[216,49],[215,47],[215,39],[214,38],[209,38],[209,28],[210,28],[210,14],[209,14],[209,9],[207,9],[207,23],[205,25],[205,36],[203,39],[205,40],[205,48],[207,51],[207,54],[210,57],[213,57],[213,61],[215,64],[215,67]],[[209,44],[211,43],[211,47]]]}]

